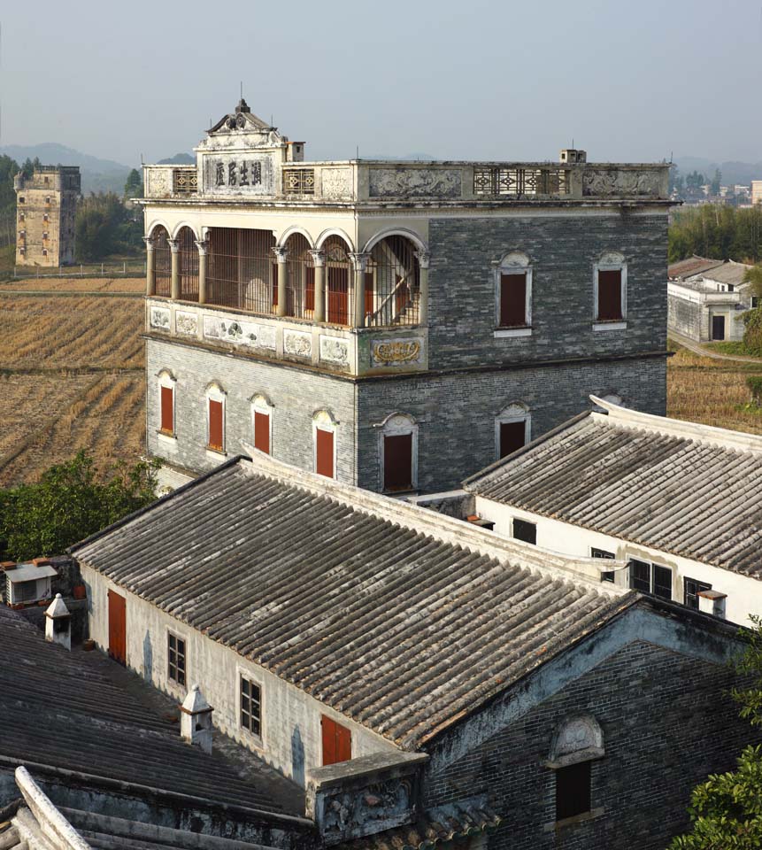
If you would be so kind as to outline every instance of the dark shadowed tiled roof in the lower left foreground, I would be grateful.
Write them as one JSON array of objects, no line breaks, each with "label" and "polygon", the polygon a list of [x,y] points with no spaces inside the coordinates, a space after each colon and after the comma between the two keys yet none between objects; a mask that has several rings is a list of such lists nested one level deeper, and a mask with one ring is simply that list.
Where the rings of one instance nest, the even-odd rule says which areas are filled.
[{"label": "dark shadowed tiled roof in the lower left foreground", "polygon": [[47,643],[0,607],[0,759],[66,769],[271,812],[281,810],[258,777],[188,746],[171,723],[113,684],[81,650]]}]

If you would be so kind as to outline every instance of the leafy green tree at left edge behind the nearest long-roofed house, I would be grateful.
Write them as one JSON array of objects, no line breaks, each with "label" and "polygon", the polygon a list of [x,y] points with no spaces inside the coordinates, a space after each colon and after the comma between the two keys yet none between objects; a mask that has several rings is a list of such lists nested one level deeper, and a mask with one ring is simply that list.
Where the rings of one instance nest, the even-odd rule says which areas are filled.
[{"label": "leafy green tree at left edge behind the nearest long-roofed house", "polygon": [[118,463],[99,475],[85,451],[42,473],[34,484],[0,492],[0,539],[6,556],[61,554],[84,537],[156,498],[156,461]]}]

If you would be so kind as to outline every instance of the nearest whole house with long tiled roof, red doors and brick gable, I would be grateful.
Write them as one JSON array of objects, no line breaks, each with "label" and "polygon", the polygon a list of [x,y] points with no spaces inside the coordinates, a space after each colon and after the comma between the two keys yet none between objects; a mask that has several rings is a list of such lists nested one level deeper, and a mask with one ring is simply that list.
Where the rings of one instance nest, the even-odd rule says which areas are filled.
[{"label": "nearest whole house with long tiled roof, red doors and brick gable", "polygon": [[319,846],[662,848],[756,739],[734,624],[252,452],[73,555],[96,645],[197,685]]}]

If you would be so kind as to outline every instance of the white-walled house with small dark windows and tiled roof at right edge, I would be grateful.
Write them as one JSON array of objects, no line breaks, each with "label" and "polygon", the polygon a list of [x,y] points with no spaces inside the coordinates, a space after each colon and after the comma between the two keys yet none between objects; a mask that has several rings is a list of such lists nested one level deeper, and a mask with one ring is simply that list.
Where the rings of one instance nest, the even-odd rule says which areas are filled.
[{"label": "white-walled house with small dark windows and tiled roof at right edge", "polygon": [[604,582],[734,622],[762,615],[762,437],[592,400],[467,479],[474,514],[498,535],[601,559]]}]

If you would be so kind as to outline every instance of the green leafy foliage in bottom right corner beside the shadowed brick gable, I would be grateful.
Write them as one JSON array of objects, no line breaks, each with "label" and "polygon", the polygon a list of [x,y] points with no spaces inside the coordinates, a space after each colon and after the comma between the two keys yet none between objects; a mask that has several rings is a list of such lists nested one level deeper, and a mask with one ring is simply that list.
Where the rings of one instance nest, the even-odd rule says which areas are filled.
[{"label": "green leafy foliage in bottom right corner beside the shadowed brick gable", "polygon": [[[754,629],[744,632],[746,648],[735,662],[749,684],[731,695],[740,715],[762,726],[762,618],[751,615]],[[673,839],[670,850],[758,850],[762,847],[762,746],[747,746],[735,771],[715,774],[690,797],[691,831]]]}]

